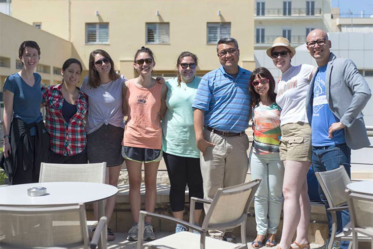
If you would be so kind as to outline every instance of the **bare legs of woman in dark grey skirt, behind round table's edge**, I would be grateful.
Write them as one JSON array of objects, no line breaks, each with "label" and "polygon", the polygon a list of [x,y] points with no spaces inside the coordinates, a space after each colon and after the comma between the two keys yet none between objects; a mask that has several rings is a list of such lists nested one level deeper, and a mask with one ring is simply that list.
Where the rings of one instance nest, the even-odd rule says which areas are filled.
[{"label": "bare legs of woman in dark grey skirt, behind round table's edge", "polygon": [[[122,165],[107,167],[105,183],[113,185],[113,186],[118,186],[118,179],[119,179],[119,173],[120,173],[121,168],[122,168]],[[114,211],[116,199],[117,199],[117,195],[112,196],[106,200],[105,216],[108,218],[108,224],[111,219],[111,215],[113,214],[113,211]],[[98,221],[98,203],[97,202],[93,203],[93,213],[94,213],[94,219]]]}]

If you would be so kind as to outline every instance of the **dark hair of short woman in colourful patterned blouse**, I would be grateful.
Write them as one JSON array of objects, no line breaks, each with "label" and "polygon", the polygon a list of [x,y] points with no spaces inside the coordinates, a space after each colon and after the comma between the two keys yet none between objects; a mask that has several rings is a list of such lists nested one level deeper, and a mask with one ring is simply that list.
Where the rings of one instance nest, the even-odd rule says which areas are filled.
[{"label": "dark hair of short woman in colourful patterned blouse", "polygon": [[253,73],[251,74],[250,80],[249,80],[249,91],[251,93],[252,102],[251,106],[255,107],[259,104],[260,102],[260,96],[259,94],[255,91],[254,86],[251,84],[256,76],[260,76],[261,78],[266,78],[269,80],[269,89],[268,89],[268,95],[267,95],[267,100],[269,103],[276,103],[276,94],[275,94],[275,79],[273,78],[272,74],[268,71],[268,69],[260,67],[256,68]]}]

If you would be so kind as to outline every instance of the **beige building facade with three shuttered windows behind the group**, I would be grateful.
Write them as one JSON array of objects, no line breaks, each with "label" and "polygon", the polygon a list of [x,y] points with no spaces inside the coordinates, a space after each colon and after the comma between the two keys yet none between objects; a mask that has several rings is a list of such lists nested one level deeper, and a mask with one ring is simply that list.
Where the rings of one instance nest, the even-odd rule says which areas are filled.
[{"label": "beige building facade with three shuttered windows behind the group", "polygon": [[134,53],[146,46],[156,56],[155,75],[175,75],[177,56],[186,50],[199,57],[201,75],[220,66],[216,42],[226,36],[239,42],[240,66],[255,68],[254,0],[13,0],[12,17],[70,42],[70,53],[58,44],[45,47],[81,60],[84,74],[90,52],[104,49],[131,78]]}]

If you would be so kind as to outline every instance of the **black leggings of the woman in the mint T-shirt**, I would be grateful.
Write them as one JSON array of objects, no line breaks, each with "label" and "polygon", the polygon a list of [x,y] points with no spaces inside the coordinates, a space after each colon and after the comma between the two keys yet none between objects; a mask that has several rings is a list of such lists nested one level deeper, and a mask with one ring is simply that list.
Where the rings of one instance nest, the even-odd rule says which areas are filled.
[{"label": "black leggings of the woman in the mint T-shirt", "polygon": [[[189,203],[191,197],[204,198],[204,186],[199,165],[199,158],[179,157],[163,152],[169,182],[169,204],[173,212],[183,211],[185,202],[185,187],[189,188]],[[202,203],[196,203],[195,209],[202,209]]]}]

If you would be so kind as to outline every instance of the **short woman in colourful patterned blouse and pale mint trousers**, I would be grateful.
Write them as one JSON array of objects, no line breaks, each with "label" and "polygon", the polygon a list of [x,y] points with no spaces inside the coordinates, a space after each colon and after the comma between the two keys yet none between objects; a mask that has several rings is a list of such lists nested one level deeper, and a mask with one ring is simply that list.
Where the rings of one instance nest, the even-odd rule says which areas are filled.
[{"label": "short woman in colourful patterned blouse and pale mint trousers", "polygon": [[[253,96],[253,146],[250,169],[253,179],[261,179],[255,193],[254,209],[257,236],[253,248],[272,247],[280,223],[284,166],[280,160],[280,113],[276,104],[275,80],[266,68],[257,68],[250,77]],[[267,215],[269,219],[267,219]]]}]

